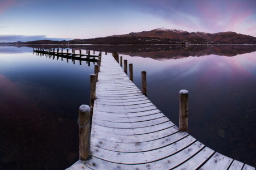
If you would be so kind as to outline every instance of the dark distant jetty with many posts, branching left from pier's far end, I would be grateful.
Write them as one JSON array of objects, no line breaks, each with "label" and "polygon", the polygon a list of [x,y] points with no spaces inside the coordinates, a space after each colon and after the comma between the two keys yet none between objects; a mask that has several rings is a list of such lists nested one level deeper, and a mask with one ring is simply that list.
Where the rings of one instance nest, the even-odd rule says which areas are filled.
[{"label": "dark distant jetty with many posts, branching left from pier's far end", "polygon": [[[37,54],[39,56],[46,56],[47,58],[51,58],[52,59],[56,59],[58,60],[59,58],[61,59],[61,61],[63,61],[63,58],[67,59],[67,62],[69,61],[69,59],[72,59],[72,62],[75,64],[75,61],[79,61],[80,65],[82,65],[82,61],[86,61],[86,63],[88,63],[88,66],[90,66],[90,62],[93,62],[93,64],[95,64],[98,59],[99,56],[101,56],[101,53],[99,56],[97,55],[90,55],[90,50],[86,50],[86,54],[82,54],[81,49],[79,50],[79,54],[75,53],[75,50],[72,50],[72,52],[69,52],[68,49],[66,50],[66,52],[63,52],[63,49],[57,48],[34,48],[33,50],[34,54]],[[95,54],[95,52],[94,52]]]}]

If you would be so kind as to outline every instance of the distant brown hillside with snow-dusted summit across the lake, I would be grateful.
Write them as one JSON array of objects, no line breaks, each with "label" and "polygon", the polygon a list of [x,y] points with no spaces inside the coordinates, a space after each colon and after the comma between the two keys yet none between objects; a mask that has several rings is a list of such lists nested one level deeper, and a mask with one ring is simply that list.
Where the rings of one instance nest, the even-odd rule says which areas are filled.
[{"label": "distant brown hillside with snow-dusted summit across the lake", "polygon": [[158,28],[151,31],[131,32],[125,35],[113,35],[95,39],[18,41],[8,44],[256,44],[256,37],[236,32],[206,33]]}]

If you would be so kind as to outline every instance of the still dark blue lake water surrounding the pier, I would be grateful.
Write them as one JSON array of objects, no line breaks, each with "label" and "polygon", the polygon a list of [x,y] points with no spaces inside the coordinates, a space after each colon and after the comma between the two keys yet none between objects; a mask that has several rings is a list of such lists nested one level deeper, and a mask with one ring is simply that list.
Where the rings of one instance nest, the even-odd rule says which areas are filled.
[{"label": "still dark blue lake water surrounding the pier", "polygon": [[[94,66],[32,47],[60,46],[0,46],[0,169],[65,169],[79,159],[78,108],[89,104]],[[189,134],[256,166],[255,45],[62,47],[119,53],[139,88],[146,70],[148,98],[176,125],[179,90],[188,90]]]}]

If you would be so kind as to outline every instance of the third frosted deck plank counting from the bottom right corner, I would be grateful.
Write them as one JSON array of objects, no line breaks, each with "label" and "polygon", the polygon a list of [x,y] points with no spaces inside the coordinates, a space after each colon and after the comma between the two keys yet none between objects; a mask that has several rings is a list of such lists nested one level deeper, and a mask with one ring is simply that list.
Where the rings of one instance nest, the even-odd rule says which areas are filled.
[{"label": "third frosted deck plank counting from the bottom right corner", "polygon": [[227,156],[221,155],[218,152],[212,156],[200,169],[218,169],[218,170],[224,170],[228,169],[229,165],[232,163],[231,158],[228,158]]}]

